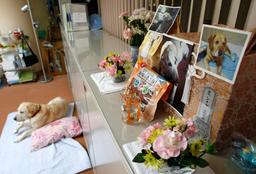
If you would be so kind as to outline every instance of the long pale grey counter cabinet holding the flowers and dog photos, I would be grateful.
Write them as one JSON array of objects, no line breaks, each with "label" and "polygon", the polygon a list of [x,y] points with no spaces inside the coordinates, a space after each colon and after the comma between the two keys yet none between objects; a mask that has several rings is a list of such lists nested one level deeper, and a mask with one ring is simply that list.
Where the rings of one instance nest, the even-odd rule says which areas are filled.
[{"label": "long pale grey counter cabinet holding the flowers and dog photos", "polygon": [[[142,118],[138,125],[123,123],[119,94],[123,91],[102,94],[90,75],[102,72],[97,65],[110,52],[121,54],[130,46],[102,30],[61,33],[71,90],[94,173],[134,173],[122,145],[136,141],[148,126],[163,124],[168,115],[163,111],[162,101],[152,122]],[[243,173],[222,154],[204,156],[214,172]]]}]

